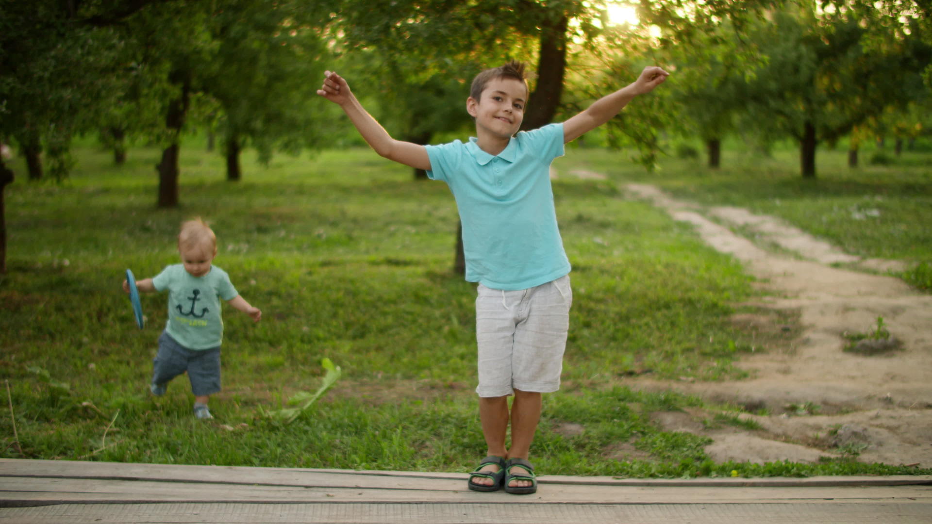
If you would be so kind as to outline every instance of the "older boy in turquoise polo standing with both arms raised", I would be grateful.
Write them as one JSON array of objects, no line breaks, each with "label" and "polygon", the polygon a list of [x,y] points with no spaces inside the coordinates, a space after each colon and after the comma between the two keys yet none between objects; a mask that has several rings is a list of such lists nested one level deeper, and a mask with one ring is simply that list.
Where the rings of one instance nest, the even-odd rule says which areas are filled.
[{"label": "older boy in turquoise polo standing with both arms raised", "polygon": [[[668,75],[646,67],[631,85],[563,124],[518,132],[528,103],[524,65],[487,69],[473,79],[466,111],[476,136],[468,144],[416,145],[394,140],[356,100],[346,80],[326,72],[317,93],[337,103],[363,139],[387,159],[443,180],[457,201],[466,280],[477,282],[479,419],[487,458],[470,490],[533,493],[528,462],[541,417],[541,393],[559,388],[569,329],[569,260],[556,225],[549,166],[563,145],[617,115]],[[514,394],[511,412],[508,396]],[[511,448],[505,436],[511,420]]]}]

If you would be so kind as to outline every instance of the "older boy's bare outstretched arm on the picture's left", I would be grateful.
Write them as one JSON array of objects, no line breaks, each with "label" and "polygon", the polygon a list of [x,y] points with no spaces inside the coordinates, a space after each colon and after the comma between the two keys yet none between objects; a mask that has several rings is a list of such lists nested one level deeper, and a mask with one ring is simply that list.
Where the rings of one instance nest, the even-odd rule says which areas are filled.
[{"label": "older boy's bare outstretched arm on the picture's left", "polygon": [[317,94],[330,102],[338,104],[356,130],[363,135],[365,142],[372,146],[380,156],[411,166],[415,169],[430,171],[431,159],[423,145],[412,144],[391,138],[372,115],[363,109],[363,104],[349,90],[347,81],[336,73],[327,71],[323,74],[323,85]]}]

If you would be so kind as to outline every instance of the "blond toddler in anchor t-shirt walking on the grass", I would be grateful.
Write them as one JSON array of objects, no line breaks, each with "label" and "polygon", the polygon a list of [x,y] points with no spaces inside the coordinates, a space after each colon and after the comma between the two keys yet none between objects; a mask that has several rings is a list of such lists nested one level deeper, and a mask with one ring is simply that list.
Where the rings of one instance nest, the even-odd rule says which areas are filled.
[{"label": "blond toddler in anchor t-shirt walking on the grass", "polygon": [[[155,278],[136,282],[143,292],[169,290],[169,320],[158,338],[149,390],[163,395],[169,381],[187,371],[195,395],[194,415],[212,419],[207,403],[210,395],[220,391],[220,342],[224,333],[220,298],[254,322],[259,322],[262,311],[237,293],[226,271],[212,266],[217,239],[199,218],[182,224],[178,252],[181,264],[162,269]],[[123,291],[130,292],[126,281]]]}]

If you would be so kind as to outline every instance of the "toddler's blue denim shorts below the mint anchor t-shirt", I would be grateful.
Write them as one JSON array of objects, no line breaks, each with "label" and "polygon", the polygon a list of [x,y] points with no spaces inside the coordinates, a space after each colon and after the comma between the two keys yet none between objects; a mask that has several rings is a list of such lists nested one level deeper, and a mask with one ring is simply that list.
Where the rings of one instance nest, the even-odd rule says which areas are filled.
[{"label": "toddler's blue denim shorts below the mint anchor t-shirt", "polygon": [[195,396],[220,392],[220,347],[189,350],[164,331],[158,337],[158,354],[153,362],[152,383],[158,386],[187,371]]}]

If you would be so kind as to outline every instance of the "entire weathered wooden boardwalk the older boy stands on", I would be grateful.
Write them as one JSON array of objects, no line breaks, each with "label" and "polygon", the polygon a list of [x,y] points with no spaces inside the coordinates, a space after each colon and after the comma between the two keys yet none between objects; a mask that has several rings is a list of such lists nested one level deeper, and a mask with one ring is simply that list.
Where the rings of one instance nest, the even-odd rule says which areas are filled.
[{"label": "entire weathered wooden boardwalk the older boy stands on", "polygon": [[932,476],[541,476],[533,495],[465,474],[0,459],[0,523],[932,523]]}]

